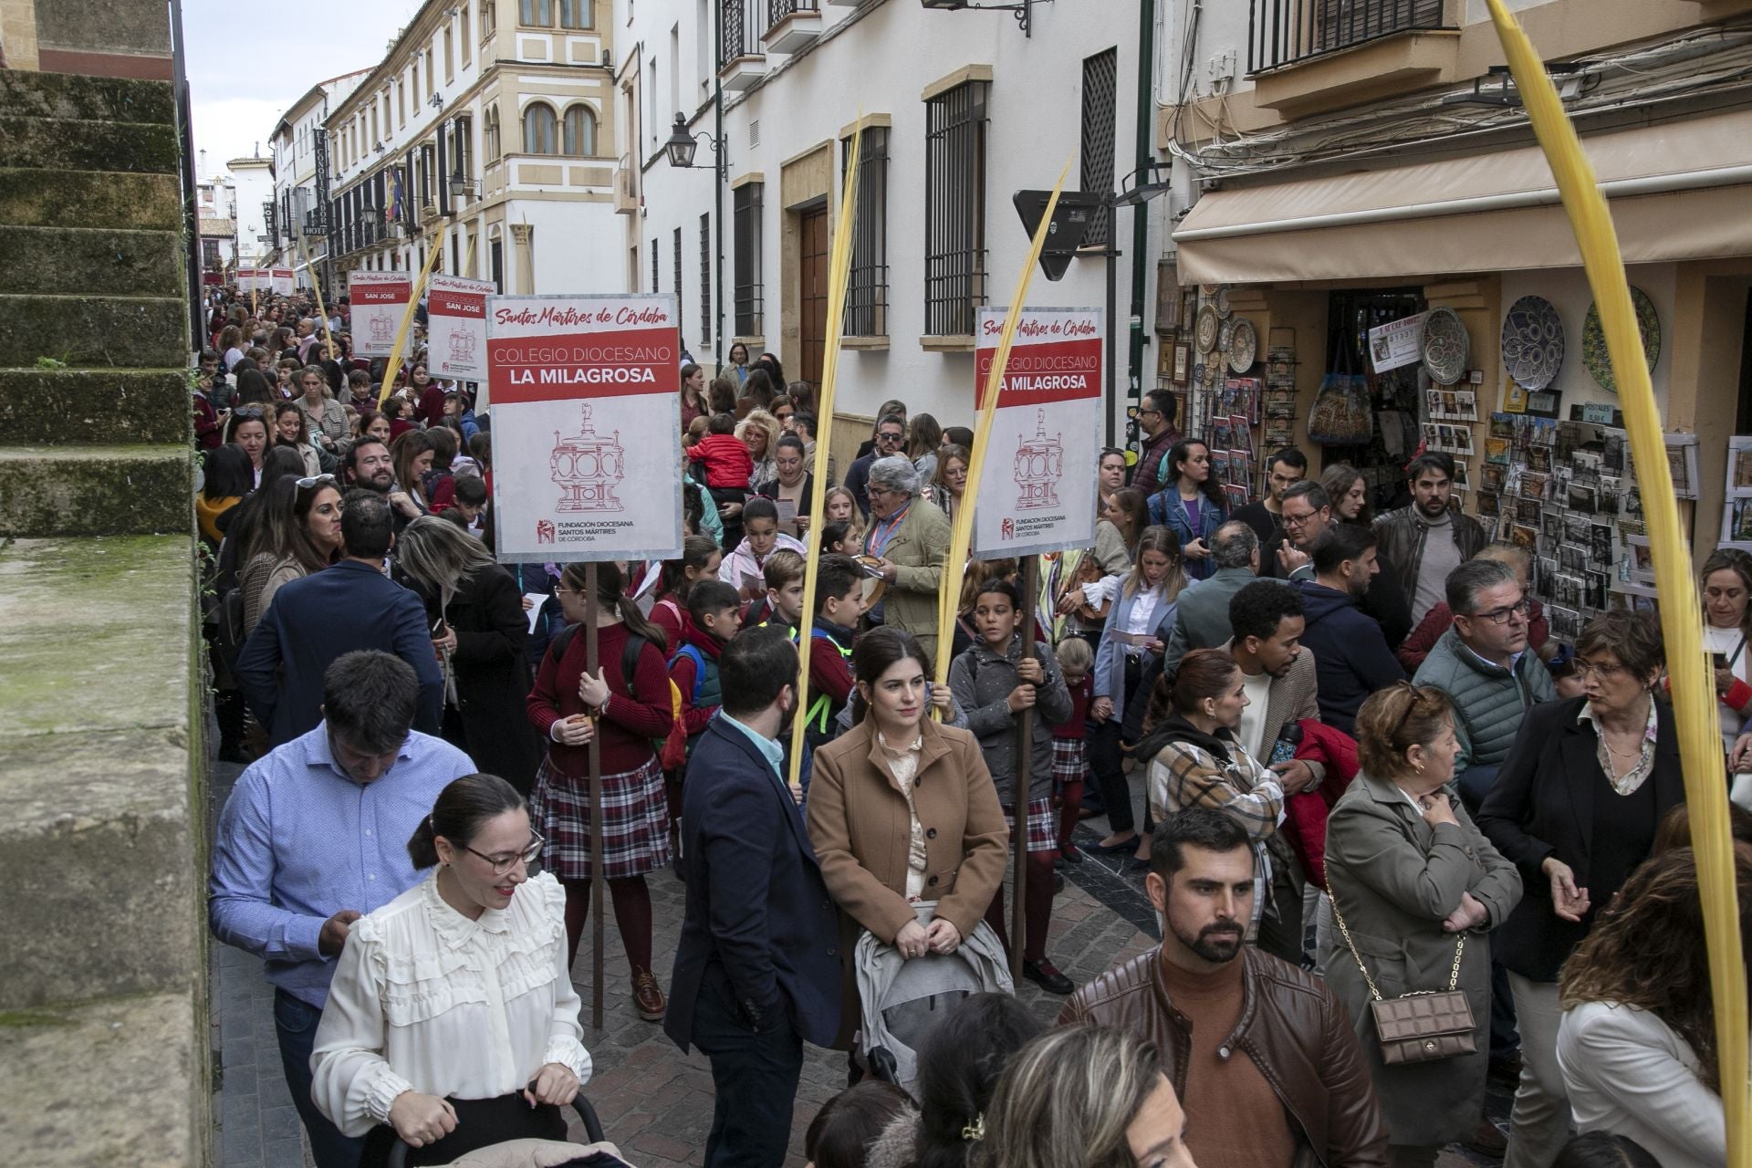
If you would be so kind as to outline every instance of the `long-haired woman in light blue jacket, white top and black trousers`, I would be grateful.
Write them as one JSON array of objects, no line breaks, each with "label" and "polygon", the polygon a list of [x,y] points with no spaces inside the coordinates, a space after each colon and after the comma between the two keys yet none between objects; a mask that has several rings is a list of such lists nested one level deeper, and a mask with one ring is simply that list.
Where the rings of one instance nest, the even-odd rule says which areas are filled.
[{"label": "long-haired woman in light blue jacket, white top and black trousers", "polygon": [[[1123,490],[1120,494],[1125,494]],[[1132,494],[1137,494],[1135,490]],[[1100,785],[1107,827],[1113,828],[1090,851],[1111,855],[1134,851],[1137,867],[1149,860],[1149,832],[1155,816],[1144,806],[1144,834],[1134,828],[1132,792],[1120,755],[1120,727],[1127,704],[1144,690],[1144,678],[1162,664],[1162,651],[1174,632],[1174,604],[1186,588],[1181,566],[1181,541],[1167,527],[1146,527],[1137,539],[1132,571],[1120,583],[1120,595],[1107,609],[1100,646],[1095,650],[1095,700],[1090,721],[1090,765]]]}]

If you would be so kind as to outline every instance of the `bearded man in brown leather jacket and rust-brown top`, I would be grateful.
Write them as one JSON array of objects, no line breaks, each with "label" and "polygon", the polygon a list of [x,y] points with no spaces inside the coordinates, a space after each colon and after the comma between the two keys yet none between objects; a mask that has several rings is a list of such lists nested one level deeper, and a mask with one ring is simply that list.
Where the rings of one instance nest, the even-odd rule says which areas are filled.
[{"label": "bearded man in brown leather jacket and rust-brown top", "polygon": [[1156,825],[1149,856],[1162,946],[1077,989],[1058,1023],[1156,1045],[1200,1168],[1386,1168],[1388,1128],[1339,998],[1244,942],[1246,830],[1188,807]]}]

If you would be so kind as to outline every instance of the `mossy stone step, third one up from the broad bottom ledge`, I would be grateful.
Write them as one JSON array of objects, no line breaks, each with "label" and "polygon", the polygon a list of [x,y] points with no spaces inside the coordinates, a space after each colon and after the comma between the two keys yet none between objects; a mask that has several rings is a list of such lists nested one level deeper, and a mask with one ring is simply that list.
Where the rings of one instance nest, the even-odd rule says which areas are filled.
[{"label": "mossy stone step, third one up from the broad bottom ledge", "polygon": [[0,296],[0,368],[33,368],[49,357],[75,366],[177,369],[187,364],[189,345],[180,294]]}]

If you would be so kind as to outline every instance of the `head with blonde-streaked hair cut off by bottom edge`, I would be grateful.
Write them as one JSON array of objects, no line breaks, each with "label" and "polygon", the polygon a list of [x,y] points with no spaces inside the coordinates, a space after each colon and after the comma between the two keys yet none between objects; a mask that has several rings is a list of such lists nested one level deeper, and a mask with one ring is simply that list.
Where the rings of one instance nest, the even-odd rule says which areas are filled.
[{"label": "head with blonde-streaked hair cut off by bottom edge", "polygon": [[1197,1168],[1156,1047],[1107,1026],[1049,1030],[1011,1058],[978,1168]]}]

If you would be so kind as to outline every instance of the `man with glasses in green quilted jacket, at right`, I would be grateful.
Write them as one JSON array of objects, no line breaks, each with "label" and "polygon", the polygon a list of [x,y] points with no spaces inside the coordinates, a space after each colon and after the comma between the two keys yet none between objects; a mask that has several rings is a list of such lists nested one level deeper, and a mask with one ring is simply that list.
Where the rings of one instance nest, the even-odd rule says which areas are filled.
[{"label": "man with glasses in green quilted jacket, at right", "polygon": [[1454,700],[1454,776],[1466,809],[1496,781],[1535,702],[1558,697],[1551,671],[1528,651],[1528,599],[1501,560],[1472,559],[1447,574],[1454,625],[1430,650],[1414,681],[1447,690]]}]

